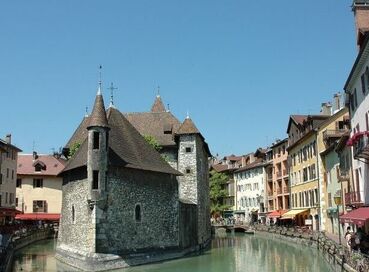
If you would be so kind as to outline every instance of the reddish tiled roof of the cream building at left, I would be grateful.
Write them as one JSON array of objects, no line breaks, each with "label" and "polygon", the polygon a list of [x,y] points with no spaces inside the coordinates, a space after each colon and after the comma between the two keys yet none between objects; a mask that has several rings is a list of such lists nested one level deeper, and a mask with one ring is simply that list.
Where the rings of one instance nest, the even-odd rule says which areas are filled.
[{"label": "reddish tiled roof of the cream building at left", "polygon": [[[41,172],[35,172],[35,165],[39,162],[45,165]],[[18,175],[37,175],[37,176],[56,176],[64,169],[65,161],[57,159],[53,155],[38,155],[36,160],[32,154],[19,154],[17,174]]]}]

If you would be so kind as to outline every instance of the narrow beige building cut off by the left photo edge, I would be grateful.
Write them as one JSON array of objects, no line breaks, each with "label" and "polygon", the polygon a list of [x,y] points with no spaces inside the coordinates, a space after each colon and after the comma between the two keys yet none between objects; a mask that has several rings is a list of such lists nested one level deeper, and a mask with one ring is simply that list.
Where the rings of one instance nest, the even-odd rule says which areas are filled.
[{"label": "narrow beige building cut off by the left photo edge", "polygon": [[14,219],[15,186],[17,179],[18,147],[12,145],[11,135],[0,139],[0,225]]}]

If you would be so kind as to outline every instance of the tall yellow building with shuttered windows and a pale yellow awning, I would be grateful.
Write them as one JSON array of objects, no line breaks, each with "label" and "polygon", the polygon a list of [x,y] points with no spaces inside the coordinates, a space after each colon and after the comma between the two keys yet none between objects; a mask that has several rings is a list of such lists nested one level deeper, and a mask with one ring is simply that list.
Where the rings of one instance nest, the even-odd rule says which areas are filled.
[{"label": "tall yellow building with shuttered windows and a pale yellow awning", "polygon": [[282,219],[320,229],[317,130],[327,115],[291,115],[288,123],[291,210]]}]

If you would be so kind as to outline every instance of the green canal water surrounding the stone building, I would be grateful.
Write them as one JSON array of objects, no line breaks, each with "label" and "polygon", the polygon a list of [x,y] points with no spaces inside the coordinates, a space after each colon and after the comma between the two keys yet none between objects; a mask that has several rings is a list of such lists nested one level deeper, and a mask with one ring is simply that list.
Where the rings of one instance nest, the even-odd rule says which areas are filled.
[{"label": "green canal water surrounding the stone building", "polygon": [[[54,258],[55,242],[44,240],[18,251],[13,271],[75,271]],[[115,270],[119,271],[119,270]],[[217,237],[202,255],[123,269],[124,272],[332,271],[314,249],[262,235]]]}]

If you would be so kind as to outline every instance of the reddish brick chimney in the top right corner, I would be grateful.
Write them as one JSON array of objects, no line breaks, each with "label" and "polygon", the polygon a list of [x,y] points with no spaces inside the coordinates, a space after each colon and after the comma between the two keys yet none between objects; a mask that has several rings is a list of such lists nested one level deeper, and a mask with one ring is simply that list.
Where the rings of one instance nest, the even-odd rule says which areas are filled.
[{"label": "reddish brick chimney in the top right corner", "polygon": [[352,11],[355,16],[356,44],[360,51],[365,39],[365,32],[369,31],[369,0],[354,0]]}]

